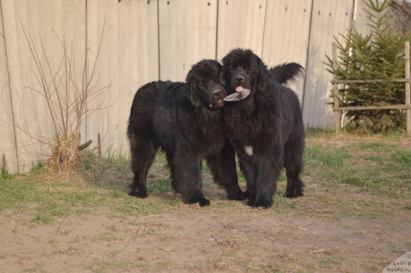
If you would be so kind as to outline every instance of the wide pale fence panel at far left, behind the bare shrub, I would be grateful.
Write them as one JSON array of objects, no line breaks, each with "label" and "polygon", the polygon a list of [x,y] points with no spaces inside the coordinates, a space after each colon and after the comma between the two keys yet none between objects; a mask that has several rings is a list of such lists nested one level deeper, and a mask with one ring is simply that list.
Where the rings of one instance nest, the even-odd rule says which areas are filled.
[{"label": "wide pale fence panel at far left, behind the bare shrub", "polygon": [[64,34],[66,41],[73,41],[73,50],[77,52],[80,48],[80,56],[77,55],[77,57],[81,59],[85,44],[85,2],[81,0],[70,2],[64,0],[2,0],[1,4],[16,123],[18,170],[27,171],[33,161],[44,159],[43,155],[49,152],[49,149],[44,143],[39,143],[39,140],[50,141],[49,137],[53,135],[53,130],[44,97],[30,90],[30,88],[39,90],[40,85],[31,70],[35,70],[36,67],[20,21],[26,33],[31,36],[40,55],[46,77],[50,81],[46,60],[42,56],[39,34],[49,58],[52,73],[57,71],[63,57],[63,50],[56,34],[60,38]]}]

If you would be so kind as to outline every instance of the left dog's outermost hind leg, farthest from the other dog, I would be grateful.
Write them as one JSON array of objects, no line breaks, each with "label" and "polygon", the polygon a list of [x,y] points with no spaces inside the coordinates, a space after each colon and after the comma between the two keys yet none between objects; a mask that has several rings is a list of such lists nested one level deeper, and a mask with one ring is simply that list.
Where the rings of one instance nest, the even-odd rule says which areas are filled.
[{"label": "left dog's outermost hind leg, farthest from the other dog", "polygon": [[147,197],[146,178],[147,172],[153,163],[157,148],[154,147],[152,141],[141,136],[132,134],[130,136],[131,152],[132,152],[132,170],[134,173],[134,180],[129,185],[130,196],[140,198]]}]

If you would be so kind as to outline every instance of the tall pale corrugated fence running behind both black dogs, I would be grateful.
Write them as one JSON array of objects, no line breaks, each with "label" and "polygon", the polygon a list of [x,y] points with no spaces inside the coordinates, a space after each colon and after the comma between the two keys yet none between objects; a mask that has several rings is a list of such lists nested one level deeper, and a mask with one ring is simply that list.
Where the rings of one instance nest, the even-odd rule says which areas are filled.
[{"label": "tall pale corrugated fence running behind both black dogs", "polygon": [[57,37],[64,37],[81,68],[86,56],[96,57],[105,26],[94,79],[109,92],[87,100],[87,109],[110,107],[87,115],[80,142],[92,139],[90,148],[103,155],[127,155],[127,119],[138,87],[183,81],[195,62],[221,60],[236,47],[254,50],[268,66],[303,65],[304,78],[291,87],[304,125],[332,128],[332,74],[323,62],[334,37],[343,42],[339,33],[354,21],[360,33],[369,33],[363,8],[358,0],[0,0],[0,160],[10,172],[27,171],[45,160],[37,153],[49,147],[19,128],[42,139],[54,134],[41,95],[28,91],[38,81],[23,27],[36,48],[44,46],[51,67],[59,67]]}]

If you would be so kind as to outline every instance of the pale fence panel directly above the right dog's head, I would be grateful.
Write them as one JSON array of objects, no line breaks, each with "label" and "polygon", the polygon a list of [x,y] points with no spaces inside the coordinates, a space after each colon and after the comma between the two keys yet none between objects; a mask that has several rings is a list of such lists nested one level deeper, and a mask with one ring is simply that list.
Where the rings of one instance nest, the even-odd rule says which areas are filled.
[{"label": "pale fence panel directly above the right dog's head", "polygon": [[218,3],[217,60],[237,47],[252,49],[261,56],[267,0]]}]

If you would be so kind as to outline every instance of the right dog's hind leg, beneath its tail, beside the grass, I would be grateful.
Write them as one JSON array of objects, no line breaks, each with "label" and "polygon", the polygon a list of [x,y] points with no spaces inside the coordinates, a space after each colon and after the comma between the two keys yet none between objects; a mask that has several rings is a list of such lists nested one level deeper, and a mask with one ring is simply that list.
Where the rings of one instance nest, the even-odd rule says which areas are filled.
[{"label": "right dog's hind leg, beneath its tail, beside the grass", "polygon": [[284,147],[284,167],[287,171],[287,189],[284,194],[288,198],[304,195],[304,182],[300,178],[303,171],[304,133],[294,134]]}]

